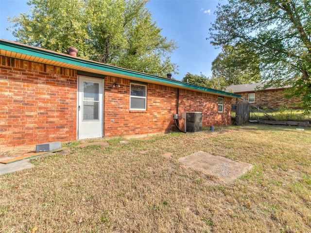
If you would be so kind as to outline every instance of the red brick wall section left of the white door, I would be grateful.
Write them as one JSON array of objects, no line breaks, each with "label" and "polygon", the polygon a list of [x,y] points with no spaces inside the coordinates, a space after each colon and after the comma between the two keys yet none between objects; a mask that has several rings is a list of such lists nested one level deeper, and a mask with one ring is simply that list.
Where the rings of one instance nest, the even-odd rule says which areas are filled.
[{"label": "red brick wall section left of the white door", "polygon": [[71,69],[0,57],[0,148],[76,139]]}]

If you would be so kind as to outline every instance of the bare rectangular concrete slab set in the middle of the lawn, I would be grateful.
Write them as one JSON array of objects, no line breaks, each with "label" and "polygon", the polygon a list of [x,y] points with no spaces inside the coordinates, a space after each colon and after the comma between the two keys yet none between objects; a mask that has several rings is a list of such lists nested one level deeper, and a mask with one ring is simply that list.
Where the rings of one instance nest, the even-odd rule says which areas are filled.
[{"label": "bare rectangular concrete slab set in the middle of the lawn", "polygon": [[199,151],[178,159],[187,167],[193,167],[218,177],[225,183],[232,183],[253,165],[234,161],[222,156],[214,156],[204,151]]}]

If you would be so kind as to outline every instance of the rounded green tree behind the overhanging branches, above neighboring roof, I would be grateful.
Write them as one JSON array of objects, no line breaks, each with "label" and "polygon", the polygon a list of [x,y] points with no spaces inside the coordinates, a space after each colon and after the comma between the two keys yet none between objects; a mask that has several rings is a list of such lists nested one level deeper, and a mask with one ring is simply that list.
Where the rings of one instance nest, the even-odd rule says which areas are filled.
[{"label": "rounded green tree behind the overhanging branches, above neighboring roof", "polygon": [[256,52],[243,44],[224,45],[212,62],[212,77],[224,85],[259,82],[259,61]]}]

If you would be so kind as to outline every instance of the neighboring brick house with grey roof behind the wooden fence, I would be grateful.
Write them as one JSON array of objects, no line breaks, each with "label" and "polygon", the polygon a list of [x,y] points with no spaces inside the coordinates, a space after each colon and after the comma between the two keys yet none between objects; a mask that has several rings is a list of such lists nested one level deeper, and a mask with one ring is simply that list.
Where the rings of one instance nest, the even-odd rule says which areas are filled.
[{"label": "neighboring brick house with grey roof behind the wooden fence", "polygon": [[[290,88],[290,86],[277,88],[271,86],[262,90],[263,85],[264,82],[230,85],[225,88],[225,91],[241,95],[242,98],[253,103],[260,109],[277,109],[284,106],[298,108],[298,104],[301,102],[301,99],[285,97],[284,91]],[[234,98],[232,99],[232,105],[242,101],[242,99]]]}]

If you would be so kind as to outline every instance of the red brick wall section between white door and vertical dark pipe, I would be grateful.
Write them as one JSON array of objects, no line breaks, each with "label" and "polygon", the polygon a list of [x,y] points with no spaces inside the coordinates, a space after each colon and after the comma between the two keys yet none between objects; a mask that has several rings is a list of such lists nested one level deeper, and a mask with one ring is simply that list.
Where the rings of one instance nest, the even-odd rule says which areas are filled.
[{"label": "red brick wall section between white door and vertical dark pipe", "polygon": [[[112,87],[113,83],[120,87]],[[147,110],[130,111],[130,80],[105,78],[104,136],[123,136],[172,130],[177,89],[147,84]],[[111,122],[111,121],[114,122]]]}]

